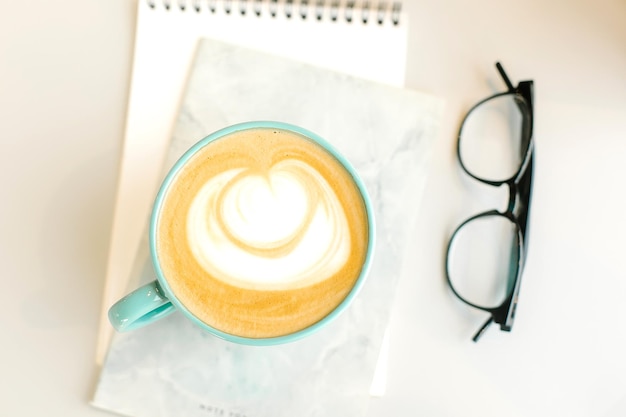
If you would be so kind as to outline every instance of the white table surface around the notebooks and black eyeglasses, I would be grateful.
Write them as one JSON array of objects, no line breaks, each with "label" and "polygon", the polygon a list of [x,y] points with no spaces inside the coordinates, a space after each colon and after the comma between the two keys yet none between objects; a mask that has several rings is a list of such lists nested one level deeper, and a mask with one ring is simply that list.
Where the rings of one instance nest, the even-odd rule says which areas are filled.
[{"label": "white table surface around the notebooks and black eyeglasses", "polygon": [[[131,0],[0,2],[0,415],[89,406],[132,57]],[[405,1],[407,85],[446,99],[369,415],[626,415],[626,2]],[[474,102],[536,87],[529,257],[513,332],[446,288],[447,237],[506,194],[458,169]],[[487,197],[490,195],[491,197]]]}]

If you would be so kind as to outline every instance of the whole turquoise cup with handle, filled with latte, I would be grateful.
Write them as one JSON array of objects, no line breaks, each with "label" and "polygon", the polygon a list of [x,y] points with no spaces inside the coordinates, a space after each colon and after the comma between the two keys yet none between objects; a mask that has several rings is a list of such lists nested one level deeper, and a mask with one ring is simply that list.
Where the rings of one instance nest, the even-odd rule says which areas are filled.
[{"label": "whole turquoise cup with handle, filled with latte", "polygon": [[[264,138],[257,141],[254,135]],[[292,142],[298,138],[303,147],[285,145],[289,140],[283,138]],[[251,143],[259,143],[261,149],[251,152]],[[237,149],[245,150],[242,154]],[[320,158],[311,159],[316,154]],[[250,158],[263,167],[242,168]],[[194,169],[200,164],[210,169],[197,174]],[[227,172],[222,172],[223,165]],[[211,172],[213,168],[216,172]],[[267,192],[253,187],[263,178]],[[301,189],[315,191],[295,198]],[[267,206],[264,195],[278,205]],[[233,201],[248,202],[249,209]],[[283,205],[287,201],[291,205]],[[292,216],[304,207],[298,203],[302,201],[313,201],[318,208],[306,204],[302,216]],[[276,227],[268,226],[265,214],[280,219]],[[297,230],[303,232],[290,234],[290,224],[301,219],[306,227]],[[257,224],[258,233],[274,234],[271,244],[256,247],[257,232],[254,236],[237,232],[238,225],[248,223]],[[334,232],[325,232],[325,227]],[[231,342],[294,341],[328,324],[354,300],[367,277],[374,242],[373,209],[365,185],[332,145],[286,123],[233,125],[196,143],[166,176],[150,221],[156,280],[114,304],[109,319],[118,331],[127,331],[179,310],[200,328]],[[226,262],[229,259],[232,262]],[[276,265],[291,272],[283,276],[282,266],[280,271],[272,269]]]}]

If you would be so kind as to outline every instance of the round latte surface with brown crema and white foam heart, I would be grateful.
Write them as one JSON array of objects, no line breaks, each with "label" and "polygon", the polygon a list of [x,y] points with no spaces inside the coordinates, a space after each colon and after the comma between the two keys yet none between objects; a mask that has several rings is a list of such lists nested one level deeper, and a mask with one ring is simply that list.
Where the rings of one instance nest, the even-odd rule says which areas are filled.
[{"label": "round latte surface with brown crema and white foam heart", "polygon": [[202,322],[248,338],[309,327],[356,283],[368,218],[350,173],[300,134],[254,128],[198,150],[156,229],[170,290]]}]

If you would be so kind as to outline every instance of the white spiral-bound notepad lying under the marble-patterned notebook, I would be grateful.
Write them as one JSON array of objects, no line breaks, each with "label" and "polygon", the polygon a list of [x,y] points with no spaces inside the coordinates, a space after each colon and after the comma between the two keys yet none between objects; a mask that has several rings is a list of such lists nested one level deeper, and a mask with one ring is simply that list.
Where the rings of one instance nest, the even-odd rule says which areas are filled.
[{"label": "white spiral-bound notepad lying under the marble-patterned notebook", "polygon": [[397,1],[138,0],[134,61],[96,362],[127,289],[197,42],[212,38],[394,86],[407,19]]}]

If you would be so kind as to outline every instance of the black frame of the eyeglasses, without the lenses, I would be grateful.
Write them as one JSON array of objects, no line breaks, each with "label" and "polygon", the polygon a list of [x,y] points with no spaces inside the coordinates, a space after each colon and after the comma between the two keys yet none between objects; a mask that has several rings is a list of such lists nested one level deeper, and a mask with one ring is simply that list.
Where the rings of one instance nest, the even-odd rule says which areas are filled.
[{"label": "black frame of the eyeglasses, without the lenses", "polygon": [[[459,133],[457,136],[457,158],[461,168],[467,175],[474,178],[477,181],[480,181],[484,184],[491,185],[494,187],[500,187],[502,185],[507,185],[509,188],[509,202],[507,205],[507,209],[504,212],[500,212],[498,210],[489,210],[483,213],[476,214],[464,222],[462,222],[456,230],[453,232],[450,237],[450,241],[448,242],[448,248],[446,252],[446,264],[445,264],[445,274],[446,281],[448,286],[454,293],[454,295],[459,298],[465,304],[483,310],[491,314],[489,319],[480,327],[478,332],[474,335],[472,340],[477,342],[480,336],[484,333],[484,331],[491,325],[493,322],[496,322],[500,325],[500,330],[503,331],[511,331],[513,327],[513,322],[515,320],[515,312],[517,309],[517,303],[519,299],[519,290],[521,284],[521,276],[524,269],[524,265],[526,262],[526,253],[528,249],[528,216],[530,213],[530,203],[531,203],[531,194],[532,194],[532,180],[533,180],[533,160],[534,160],[534,140],[533,140],[533,104],[534,104],[534,83],[532,80],[521,81],[514,87],[511,83],[509,77],[506,75],[506,72],[502,68],[499,62],[496,63],[496,68],[500,73],[504,83],[507,86],[507,91],[496,93],[491,95],[477,104],[475,104],[470,110],[467,112],[463,121],[461,122],[461,126],[459,128]],[[522,159],[522,163],[518,171],[509,179],[506,180],[491,180],[482,178],[469,170],[466,165],[463,163],[463,158],[461,155],[461,138],[463,133],[463,127],[467,118],[472,112],[479,108],[483,103],[492,100],[497,97],[502,97],[506,95],[512,95],[515,102],[517,103],[521,114],[522,114],[522,141],[520,152],[524,152],[524,157]],[[458,232],[463,229],[468,223],[471,223],[474,220],[486,218],[490,216],[500,216],[508,219],[512,222],[517,231],[517,265],[515,265],[516,273],[513,278],[513,281],[510,283],[510,291],[508,292],[504,301],[496,307],[485,307],[481,305],[477,305],[465,299],[452,284],[452,280],[450,279],[450,251],[453,246],[454,240],[458,234]]]}]

